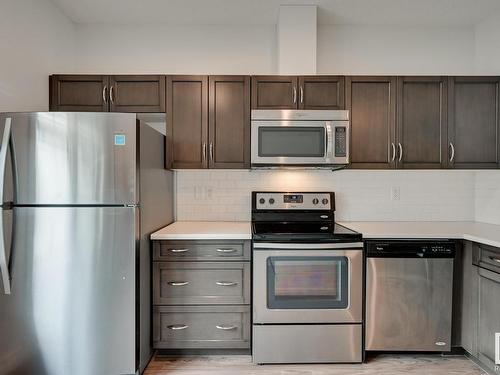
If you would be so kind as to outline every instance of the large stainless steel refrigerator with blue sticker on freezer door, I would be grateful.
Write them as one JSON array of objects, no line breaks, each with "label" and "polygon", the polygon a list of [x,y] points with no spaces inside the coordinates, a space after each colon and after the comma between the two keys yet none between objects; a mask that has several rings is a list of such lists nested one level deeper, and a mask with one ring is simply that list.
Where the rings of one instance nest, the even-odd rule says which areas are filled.
[{"label": "large stainless steel refrigerator with blue sticker on freezer door", "polygon": [[163,115],[0,114],[0,374],[142,372]]}]

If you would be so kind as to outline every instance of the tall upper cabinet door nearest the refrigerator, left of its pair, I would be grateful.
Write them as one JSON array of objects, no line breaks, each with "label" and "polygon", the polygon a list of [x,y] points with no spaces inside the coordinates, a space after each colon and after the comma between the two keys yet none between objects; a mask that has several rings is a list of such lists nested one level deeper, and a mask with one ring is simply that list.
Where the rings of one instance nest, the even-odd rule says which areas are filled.
[{"label": "tall upper cabinet door nearest the refrigerator, left of its pair", "polygon": [[167,152],[172,168],[207,168],[207,86],[207,76],[167,77]]}]

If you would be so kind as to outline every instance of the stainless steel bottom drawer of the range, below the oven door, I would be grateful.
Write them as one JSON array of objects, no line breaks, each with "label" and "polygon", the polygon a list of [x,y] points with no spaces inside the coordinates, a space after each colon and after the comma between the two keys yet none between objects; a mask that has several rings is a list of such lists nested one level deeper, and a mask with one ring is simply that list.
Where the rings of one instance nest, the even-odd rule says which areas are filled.
[{"label": "stainless steel bottom drawer of the range, below the oven door", "polygon": [[359,363],[361,337],[361,324],[254,325],[253,361]]}]

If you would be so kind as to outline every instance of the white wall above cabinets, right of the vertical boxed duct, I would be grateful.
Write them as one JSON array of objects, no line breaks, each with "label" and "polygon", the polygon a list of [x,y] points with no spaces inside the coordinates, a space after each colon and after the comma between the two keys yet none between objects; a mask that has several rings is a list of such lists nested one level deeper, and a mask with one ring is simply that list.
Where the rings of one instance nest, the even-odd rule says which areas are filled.
[{"label": "white wall above cabinets, right of the vertical boxed duct", "polygon": [[473,74],[474,30],[320,26],[318,73]]}]

